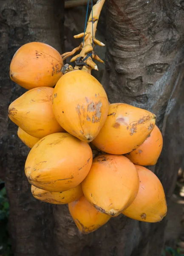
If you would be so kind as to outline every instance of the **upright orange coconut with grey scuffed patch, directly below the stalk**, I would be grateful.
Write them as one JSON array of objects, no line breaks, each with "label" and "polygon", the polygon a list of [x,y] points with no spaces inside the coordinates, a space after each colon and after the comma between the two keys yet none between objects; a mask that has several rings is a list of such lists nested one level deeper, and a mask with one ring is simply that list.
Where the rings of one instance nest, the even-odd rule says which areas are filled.
[{"label": "upright orange coconut with grey scuffed patch, directly below the stalk", "polygon": [[90,142],[108,116],[108,97],[102,85],[82,70],[62,76],[54,88],[53,111],[59,124],[82,141]]}]

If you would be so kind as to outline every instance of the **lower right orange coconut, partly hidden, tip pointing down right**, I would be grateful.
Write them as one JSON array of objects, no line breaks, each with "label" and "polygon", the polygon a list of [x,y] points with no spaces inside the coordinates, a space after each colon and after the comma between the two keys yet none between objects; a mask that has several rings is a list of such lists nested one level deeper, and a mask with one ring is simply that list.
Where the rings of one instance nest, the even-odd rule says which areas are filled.
[{"label": "lower right orange coconut, partly hidden, tip pointing down right", "polygon": [[135,165],[140,185],[133,203],[122,213],[138,221],[157,222],[167,214],[164,189],[159,178],[143,166]]}]

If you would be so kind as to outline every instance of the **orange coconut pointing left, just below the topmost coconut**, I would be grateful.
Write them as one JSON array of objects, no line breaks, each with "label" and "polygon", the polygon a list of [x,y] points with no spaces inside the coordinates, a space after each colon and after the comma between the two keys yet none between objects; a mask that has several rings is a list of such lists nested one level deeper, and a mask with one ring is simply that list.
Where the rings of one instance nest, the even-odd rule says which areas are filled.
[{"label": "orange coconut pointing left, just below the topmost coconut", "polygon": [[9,105],[9,118],[36,138],[64,131],[52,111],[53,91],[51,87],[39,87],[27,91]]}]

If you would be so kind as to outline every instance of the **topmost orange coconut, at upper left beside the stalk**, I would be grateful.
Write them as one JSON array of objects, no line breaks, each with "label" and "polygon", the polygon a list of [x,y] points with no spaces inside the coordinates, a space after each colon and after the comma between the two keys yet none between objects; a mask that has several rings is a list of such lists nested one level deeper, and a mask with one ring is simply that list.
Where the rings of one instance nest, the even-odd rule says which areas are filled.
[{"label": "topmost orange coconut, at upper left beside the stalk", "polygon": [[62,58],[48,44],[31,42],[15,52],[10,64],[10,78],[25,89],[53,87],[62,76]]}]

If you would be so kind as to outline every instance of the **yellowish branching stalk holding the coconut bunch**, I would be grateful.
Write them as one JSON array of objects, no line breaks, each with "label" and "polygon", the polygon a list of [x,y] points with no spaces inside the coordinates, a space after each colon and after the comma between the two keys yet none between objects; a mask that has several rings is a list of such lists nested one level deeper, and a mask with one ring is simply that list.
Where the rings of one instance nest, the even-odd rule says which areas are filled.
[{"label": "yellowish branching stalk holding the coconut bunch", "polygon": [[[97,40],[95,38],[96,26],[97,26],[97,23],[99,20],[99,15],[100,15],[100,12],[102,10],[104,3],[105,3],[105,0],[98,0],[96,2],[96,4],[93,5],[93,12],[91,11],[91,14],[89,16],[86,31],[83,33],[80,33],[78,35],[74,35],[74,38],[84,38],[85,37],[84,41],[81,42],[79,47],[76,47],[75,49],[73,49],[73,51],[65,52],[64,54],[62,54],[62,59],[64,61],[66,58],[74,55],[77,51],[79,51],[79,50],[81,51],[79,54],[77,54],[76,56],[71,58],[71,62],[75,61],[75,64],[76,64],[74,69],[80,68],[82,70],[87,71],[88,73],[91,73],[92,69],[98,70],[96,63],[92,59],[95,59],[99,62],[104,63],[104,61],[102,61],[98,57],[98,55],[96,55],[94,53],[94,50],[93,50],[93,48],[95,47],[95,44],[98,44],[99,46],[105,46],[105,44],[103,44],[102,42],[100,42],[99,40]],[[92,19],[92,14],[93,14],[93,19]],[[91,56],[92,56],[92,58],[91,58]],[[65,72],[70,71],[71,66],[68,65],[68,67],[65,68],[64,70],[65,70]]]}]

